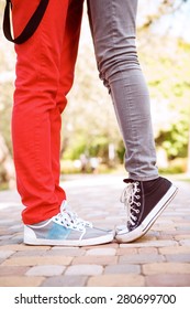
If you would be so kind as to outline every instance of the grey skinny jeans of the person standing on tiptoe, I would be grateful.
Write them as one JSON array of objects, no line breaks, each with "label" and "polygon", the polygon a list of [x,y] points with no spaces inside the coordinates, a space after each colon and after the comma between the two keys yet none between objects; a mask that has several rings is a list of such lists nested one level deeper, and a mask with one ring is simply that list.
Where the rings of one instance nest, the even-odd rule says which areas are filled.
[{"label": "grey skinny jeans of the person standing on tiptoe", "polygon": [[[149,94],[135,45],[137,0],[87,0],[100,78],[112,97],[128,177],[158,177]],[[111,124],[110,124],[111,126]]]}]

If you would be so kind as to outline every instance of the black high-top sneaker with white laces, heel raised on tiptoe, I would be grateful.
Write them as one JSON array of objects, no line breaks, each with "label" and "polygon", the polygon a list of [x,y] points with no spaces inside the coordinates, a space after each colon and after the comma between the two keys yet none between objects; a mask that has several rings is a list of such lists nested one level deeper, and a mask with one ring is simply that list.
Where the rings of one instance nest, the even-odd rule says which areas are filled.
[{"label": "black high-top sneaker with white laces, heel raised on tiptoe", "polygon": [[116,228],[119,243],[130,243],[143,236],[175,198],[178,189],[167,179],[150,181],[124,179],[127,183],[121,202],[127,209],[125,226]]}]

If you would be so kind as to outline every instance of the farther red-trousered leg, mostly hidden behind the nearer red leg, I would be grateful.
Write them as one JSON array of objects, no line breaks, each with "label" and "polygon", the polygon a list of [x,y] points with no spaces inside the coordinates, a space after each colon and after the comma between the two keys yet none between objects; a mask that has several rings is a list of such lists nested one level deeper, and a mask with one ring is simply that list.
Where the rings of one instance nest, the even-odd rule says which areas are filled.
[{"label": "farther red-trousered leg, mostly hidden behind the nearer red leg", "polygon": [[55,192],[59,203],[63,201],[63,190],[59,187],[60,178],[60,126],[62,113],[67,105],[66,95],[69,93],[75,73],[75,64],[78,53],[80,25],[82,17],[83,0],[70,0],[66,24],[59,68],[59,83],[56,95],[56,107],[51,110],[51,142],[52,142],[52,169],[55,180]]}]

